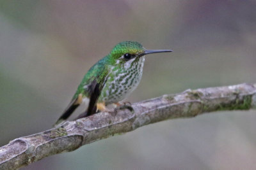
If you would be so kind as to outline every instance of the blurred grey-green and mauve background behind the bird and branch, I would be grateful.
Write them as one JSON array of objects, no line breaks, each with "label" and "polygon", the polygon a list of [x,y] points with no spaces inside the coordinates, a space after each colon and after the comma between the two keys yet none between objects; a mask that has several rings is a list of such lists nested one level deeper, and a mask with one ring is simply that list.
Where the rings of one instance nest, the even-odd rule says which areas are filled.
[{"label": "blurred grey-green and mauve background behind the bird and branch", "polygon": [[[1,1],[0,144],[52,127],[84,73],[124,40],[146,58],[132,103],[256,83],[255,1]],[[168,120],[23,169],[256,169],[256,111]]]}]

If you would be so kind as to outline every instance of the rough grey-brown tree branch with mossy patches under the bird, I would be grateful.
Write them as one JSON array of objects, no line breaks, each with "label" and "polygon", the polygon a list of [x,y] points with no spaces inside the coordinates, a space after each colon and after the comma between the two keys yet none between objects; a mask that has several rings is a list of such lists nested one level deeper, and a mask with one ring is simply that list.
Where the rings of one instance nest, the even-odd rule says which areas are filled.
[{"label": "rough grey-brown tree branch with mossy patches under the bird", "polygon": [[50,155],[143,125],[172,118],[195,117],[220,110],[249,110],[256,106],[256,85],[241,84],[186,90],[132,104],[134,111],[116,110],[66,122],[60,127],[10,141],[0,148],[0,169],[17,169]]}]

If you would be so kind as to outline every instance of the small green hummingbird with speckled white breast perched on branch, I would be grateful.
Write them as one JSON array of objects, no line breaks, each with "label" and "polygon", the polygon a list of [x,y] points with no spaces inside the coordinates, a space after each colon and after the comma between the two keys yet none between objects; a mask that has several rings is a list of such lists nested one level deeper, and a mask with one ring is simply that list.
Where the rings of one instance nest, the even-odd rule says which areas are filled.
[{"label": "small green hummingbird with speckled white breast perched on branch", "polygon": [[88,117],[97,111],[108,111],[106,106],[109,104],[121,106],[120,101],[129,96],[140,83],[145,55],[163,52],[172,50],[147,50],[136,41],[118,43],[84,75],[56,124],[67,120],[81,104],[85,104],[86,111],[78,118]]}]

